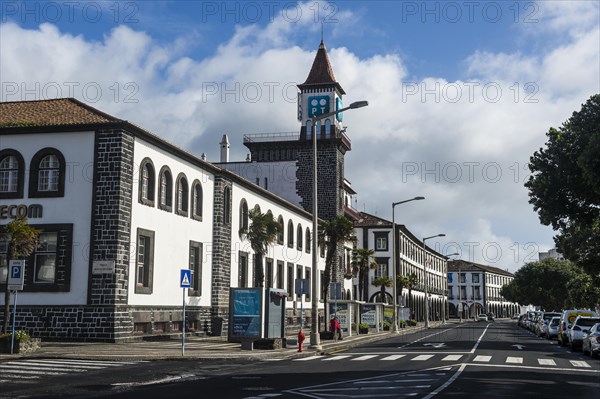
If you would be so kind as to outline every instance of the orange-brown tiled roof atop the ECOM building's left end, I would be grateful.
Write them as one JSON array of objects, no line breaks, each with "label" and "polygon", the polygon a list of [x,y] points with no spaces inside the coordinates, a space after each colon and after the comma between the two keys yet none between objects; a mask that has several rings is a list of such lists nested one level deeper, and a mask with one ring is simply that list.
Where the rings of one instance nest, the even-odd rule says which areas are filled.
[{"label": "orange-brown tiled roof atop the ECOM building's left end", "polygon": [[0,127],[123,122],[74,98],[0,102]]}]

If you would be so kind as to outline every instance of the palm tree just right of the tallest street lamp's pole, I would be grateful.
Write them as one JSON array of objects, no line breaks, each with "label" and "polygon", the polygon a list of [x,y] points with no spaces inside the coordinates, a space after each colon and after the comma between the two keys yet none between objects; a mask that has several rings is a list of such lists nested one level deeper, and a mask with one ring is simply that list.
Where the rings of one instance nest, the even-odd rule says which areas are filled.
[{"label": "palm tree just right of the tallest street lamp's pole", "polygon": [[327,288],[333,276],[337,276],[334,270],[338,245],[345,242],[355,242],[354,224],[346,216],[336,216],[328,222],[321,222],[319,229],[319,245],[325,247],[325,273],[322,284],[322,297],[327,298]]}]

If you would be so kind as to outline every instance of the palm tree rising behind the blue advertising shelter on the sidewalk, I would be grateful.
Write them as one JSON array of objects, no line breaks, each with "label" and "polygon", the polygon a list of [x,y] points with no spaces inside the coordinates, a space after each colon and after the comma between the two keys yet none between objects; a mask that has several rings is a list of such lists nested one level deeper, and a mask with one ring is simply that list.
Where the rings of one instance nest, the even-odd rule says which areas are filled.
[{"label": "palm tree rising behind the blue advertising shelter on the sidewalk", "polygon": [[250,247],[254,251],[254,286],[264,287],[265,272],[263,268],[263,257],[269,251],[271,244],[277,239],[277,234],[283,226],[273,219],[270,212],[261,213],[259,208],[253,208],[248,212],[250,227],[240,230],[240,237],[250,241]]}]

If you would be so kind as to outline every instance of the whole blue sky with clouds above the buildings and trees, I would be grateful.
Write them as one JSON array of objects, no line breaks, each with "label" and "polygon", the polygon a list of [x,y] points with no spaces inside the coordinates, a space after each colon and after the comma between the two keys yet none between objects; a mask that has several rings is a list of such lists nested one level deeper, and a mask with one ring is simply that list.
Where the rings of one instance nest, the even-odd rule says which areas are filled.
[{"label": "whole blue sky with clouds above the buildings and trees", "polygon": [[[324,38],[353,206],[442,254],[516,271],[554,247],[529,157],[600,93],[600,2],[2,1],[1,101],[75,97],[209,161],[294,132]],[[456,257],[453,257],[456,258]]]}]

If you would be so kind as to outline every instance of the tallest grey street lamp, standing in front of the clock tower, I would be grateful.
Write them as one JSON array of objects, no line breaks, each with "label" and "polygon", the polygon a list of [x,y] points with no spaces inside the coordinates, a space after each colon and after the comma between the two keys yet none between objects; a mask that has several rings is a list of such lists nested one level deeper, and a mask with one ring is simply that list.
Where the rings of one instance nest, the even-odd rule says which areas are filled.
[{"label": "tallest grey street lamp, standing in front of the clock tower", "polygon": [[344,112],[349,109],[362,108],[369,105],[368,101],[356,101],[350,104],[348,107],[338,109],[337,111],[327,112],[321,115],[314,115],[311,118],[311,134],[313,140],[313,240],[312,240],[312,297],[311,297],[311,313],[312,323],[310,326],[310,345],[317,350],[321,349],[321,339],[319,337],[319,303],[318,303],[318,292],[317,289],[317,229],[318,229],[318,207],[317,207],[317,121],[321,119],[329,118],[330,116],[337,115],[340,112]]}]

